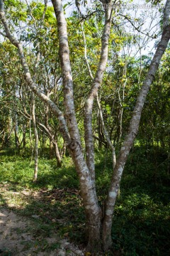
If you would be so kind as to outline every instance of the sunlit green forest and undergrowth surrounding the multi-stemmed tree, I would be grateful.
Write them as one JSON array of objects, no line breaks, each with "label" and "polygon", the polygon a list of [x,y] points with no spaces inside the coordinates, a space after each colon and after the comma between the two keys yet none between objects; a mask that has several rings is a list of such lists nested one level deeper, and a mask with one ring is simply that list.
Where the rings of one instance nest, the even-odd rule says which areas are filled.
[{"label": "sunlit green forest and undergrowth surrounding the multi-stemmed tree", "polygon": [[[104,23],[101,1],[92,3],[93,7],[89,4],[89,1],[63,1],[74,108],[84,157],[85,103],[101,58]],[[128,134],[137,95],[163,26],[164,1],[147,1],[145,4],[152,8],[140,9],[140,12],[135,8],[126,9],[122,1],[115,4],[108,63],[92,116],[96,193],[101,208],[104,208],[113,173],[113,148],[117,156]],[[52,4],[6,0],[4,12],[11,33],[23,44],[33,81],[64,112],[60,43]],[[50,107],[30,90],[18,50],[4,36],[1,23],[0,31],[1,192],[6,187],[1,193],[0,206],[29,217],[38,215],[39,230],[35,229],[35,233],[46,237],[56,232],[61,238],[67,237],[85,247],[79,179],[62,137],[60,122]],[[168,45],[149,89],[139,131],[125,164],[113,215],[113,245],[108,255],[170,254],[169,56]],[[43,196],[39,199],[13,196],[13,191],[23,190],[37,191]],[[50,253],[57,246],[44,242],[38,244],[36,253],[42,247]]]}]

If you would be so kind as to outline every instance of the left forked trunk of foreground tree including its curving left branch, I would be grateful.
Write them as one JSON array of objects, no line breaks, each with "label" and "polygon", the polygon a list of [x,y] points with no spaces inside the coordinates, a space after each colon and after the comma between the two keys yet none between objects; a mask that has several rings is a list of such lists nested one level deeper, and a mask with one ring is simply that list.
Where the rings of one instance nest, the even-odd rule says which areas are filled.
[{"label": "left forked trunk of foreground tree including its curving left branch", "polygon": [[[67,125],[64,119],[64,115],[59,110],[59,108],[46,95],[38,90],[38,87],[35,86],[35,83],[33,82],[28,69],[28,64],[26,63],[26,58],[23,54],[23,47],[21,43],[11,35],[11,32],[8,28],[8,23],[6,22],[4,11],[2,9],[0,10],[0,18],[6,31],[6,37],[8,37],[11,43],[18,48],[18,54],[21,58],[21,63],[23,65],[23,70],[28,86],[31,90],[33,90],[35,95],[37,95],[41,100],[45,102],[45,104],[50,107],[53,114],[55,114],[55,116],[60,121],[60,131],[62,132],[64,142],[69,149],[69,153],[72,156],[74,165],[76,166],[77,173],[79,175],[81,196],[84,201],[84,208],[87,216],[87,228],[89,233],[88,248],[89,250],[95,250],[97,247],[100,247],[101,209],[98,206],[96,191],[94,190],[94,186],[91,181],[91,174],[86,165],[86,161],[84,160],[84,154],[81,151],[79,129],[74,112],[73,83],[72,71],[69,62],[67,26],[62,10],[62,3],[61,1],[52,1],[52,4],[57,16],[57,27],[60,40],[60,61],[62,68],[62,82],[64,86],[64,107],[65,116],[67,118]],[[69,132],[67,130],[67,126],[69,128]]]}]

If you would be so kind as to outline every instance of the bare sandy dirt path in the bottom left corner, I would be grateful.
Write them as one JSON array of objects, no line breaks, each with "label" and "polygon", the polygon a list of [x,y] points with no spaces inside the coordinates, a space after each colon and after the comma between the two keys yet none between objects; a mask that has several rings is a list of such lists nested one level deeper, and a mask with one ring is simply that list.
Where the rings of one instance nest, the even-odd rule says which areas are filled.
[{"label": "bare sandy dirt path in the bottom left corner", "polygon": [[35,234],[31,233],[31,225],[34,223],[30,218],[16,215],[12,210],[0,206],[0,256],[84,255],[67,239],[45,238],[43,243],[38,235],[35,238]]}]

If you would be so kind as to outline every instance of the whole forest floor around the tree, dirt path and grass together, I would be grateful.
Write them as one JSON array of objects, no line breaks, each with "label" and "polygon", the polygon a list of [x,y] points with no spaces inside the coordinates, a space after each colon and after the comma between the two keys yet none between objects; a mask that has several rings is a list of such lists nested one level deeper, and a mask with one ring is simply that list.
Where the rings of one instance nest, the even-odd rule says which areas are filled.
[{"label": "whole forest floor around the tree, dirt path and grass together", "polygon": [[[0,256],[90,255],[84,252],[86,216],[71,159],[59,169],[55,159],[40,158],[33,183],[26,151],[7,153],[0,154]],[[96,155],[101,206],[110,183],[109,159],[103,151]],[[169,178],[167,154],[135,146],[115,204],[113,248],[106,255],[170,255]]]}]

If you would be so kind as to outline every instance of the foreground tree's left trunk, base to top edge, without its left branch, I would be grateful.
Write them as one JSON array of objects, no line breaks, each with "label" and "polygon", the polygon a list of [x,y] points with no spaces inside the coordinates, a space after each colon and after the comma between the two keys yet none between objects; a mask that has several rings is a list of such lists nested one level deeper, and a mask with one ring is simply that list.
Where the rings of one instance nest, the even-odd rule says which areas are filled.
[{"label": "foreground tree's left trunk, base to top edge, without its left branch", "polygon": [[62,68],[62,82],[64,86],[64,107],[67,125],[69,127],[69,134],[72,138],[72,142],[69,144],[68,148],[79,175],[81,196],[84,202],[89,234],[88,249],[95,250],[96,247],[100,246],[101,240],[101,209],[98,206],[94,183],[91,181],[91,173],[86,165],[86,161],[84,160],[84,154],[81,151],[79,129],[74,111],[73,82],[69,60],[67,23],[62,10],[62,2],[60,0],[52,0],[52,4],[57,17],[57,28],[60,41],[60,63]]}]

